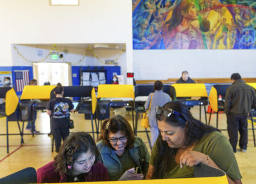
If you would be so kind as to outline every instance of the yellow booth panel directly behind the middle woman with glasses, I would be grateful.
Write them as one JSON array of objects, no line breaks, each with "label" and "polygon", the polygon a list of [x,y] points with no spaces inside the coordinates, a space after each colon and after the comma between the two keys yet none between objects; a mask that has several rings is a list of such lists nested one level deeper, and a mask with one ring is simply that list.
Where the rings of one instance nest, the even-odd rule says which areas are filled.
[{"label": "yellow booth panel directly behind the middle woman with glasses", "polygon": [[133,85],[98,85],[98,98],[133,98]]}]

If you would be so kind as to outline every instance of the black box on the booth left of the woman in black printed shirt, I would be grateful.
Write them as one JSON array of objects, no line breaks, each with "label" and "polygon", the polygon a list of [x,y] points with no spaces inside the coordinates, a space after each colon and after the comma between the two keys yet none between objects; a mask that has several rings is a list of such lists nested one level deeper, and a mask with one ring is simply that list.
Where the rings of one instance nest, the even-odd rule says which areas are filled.
[{"label": "black box on the booth left of the woman in black printed shirt", "polygon": [[34,121],[34,101],[22,101],[19,104],[20,121]]}]

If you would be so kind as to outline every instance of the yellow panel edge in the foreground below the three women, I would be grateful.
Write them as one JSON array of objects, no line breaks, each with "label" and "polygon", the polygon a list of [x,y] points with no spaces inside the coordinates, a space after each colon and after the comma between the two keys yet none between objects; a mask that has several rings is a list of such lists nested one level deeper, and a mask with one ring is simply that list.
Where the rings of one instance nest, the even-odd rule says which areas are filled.
[{"label": "yellow panel edge in the foreground below the three women", "polygon": [[[90,182],[81,182],[90,183]],[[94,184],[228,184],[226,175],[222,177],[206,177],[206,178],[178,178],[178,179],[164,179],[164,180],[133,180],[133,181],[116,181],[116,182],[94,182]]]}]

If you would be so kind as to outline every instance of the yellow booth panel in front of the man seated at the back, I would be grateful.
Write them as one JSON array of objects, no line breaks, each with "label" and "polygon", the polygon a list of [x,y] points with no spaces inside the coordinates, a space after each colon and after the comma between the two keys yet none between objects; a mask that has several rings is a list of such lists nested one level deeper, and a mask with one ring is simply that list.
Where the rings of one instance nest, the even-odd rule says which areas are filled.
[{"label": "yellow booth panel in front of the man seated at the back", "polygon": [[203,83],[174,83],[176,97],[207,97]]}]

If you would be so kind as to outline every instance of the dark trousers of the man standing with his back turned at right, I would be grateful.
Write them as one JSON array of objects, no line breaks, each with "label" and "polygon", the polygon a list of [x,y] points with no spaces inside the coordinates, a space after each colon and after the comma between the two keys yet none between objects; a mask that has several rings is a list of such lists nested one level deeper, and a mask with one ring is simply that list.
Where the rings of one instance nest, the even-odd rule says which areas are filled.
[{"label": "dark trousers of the man standing with his back turned at right", "polygon": [[230,136],[230,144],[236,153],[236,145],[238,144],[238,131],[240,134],[239,147],[247,148],[248,132],[247,132],[247,116],[239,116],[228,113],[226,115],[228,124],[228,136]]}]

